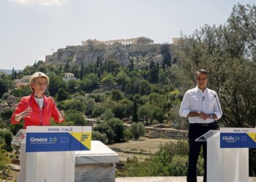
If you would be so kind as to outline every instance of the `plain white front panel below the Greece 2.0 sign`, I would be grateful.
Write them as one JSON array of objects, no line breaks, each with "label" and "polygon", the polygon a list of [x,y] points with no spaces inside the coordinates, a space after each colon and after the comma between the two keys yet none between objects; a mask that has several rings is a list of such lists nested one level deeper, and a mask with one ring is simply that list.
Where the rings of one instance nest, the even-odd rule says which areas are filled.
[{"label": "plain white front panel below the Greece 2.0 sign", "polygon": [[26,153],[26,182],[70,182],[75,179],[75,151]]}]

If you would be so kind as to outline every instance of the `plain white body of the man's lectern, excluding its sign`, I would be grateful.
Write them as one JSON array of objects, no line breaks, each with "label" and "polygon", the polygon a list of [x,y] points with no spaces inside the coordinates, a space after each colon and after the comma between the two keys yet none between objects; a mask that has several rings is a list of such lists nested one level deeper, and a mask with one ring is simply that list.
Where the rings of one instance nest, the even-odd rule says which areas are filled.
[{"label": "plain white body of the man's lectern, excluding its sign", "polygon": [[249,149],[220,148],[220,131],[210,130],[196,141],[207,142],[208,182],[248,182]]}]

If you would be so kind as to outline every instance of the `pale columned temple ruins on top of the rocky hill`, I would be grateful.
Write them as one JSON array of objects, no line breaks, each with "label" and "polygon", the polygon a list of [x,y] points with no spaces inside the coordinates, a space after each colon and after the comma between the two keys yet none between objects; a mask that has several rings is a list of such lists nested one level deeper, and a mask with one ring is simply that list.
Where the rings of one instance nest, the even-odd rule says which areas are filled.
[{"label": "pale columned temple ruins on top of the rocky hill", "polygon": [[116,39],[116,40],[110,40],[110,41],[98,41],[97,39],[88,39],[86,41],[82,41],[82,46],[92,46],[92,45],[113,45],[113,44],[123,44],[123,45],[150,45],[153,44],[154,41],[151,39],[148,39],[146,37],[138,37],[138,38],[132,38],[132,39]]}]

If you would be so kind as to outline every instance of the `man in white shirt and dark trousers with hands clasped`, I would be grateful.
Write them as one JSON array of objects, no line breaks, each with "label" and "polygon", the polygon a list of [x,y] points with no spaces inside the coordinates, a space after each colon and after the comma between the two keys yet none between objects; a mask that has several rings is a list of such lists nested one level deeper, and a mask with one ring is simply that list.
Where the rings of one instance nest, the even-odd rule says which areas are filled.
[{"label": "man in white shirt and dark trousers with hands clasped", "polygon": [[207,151],[206,142],[197,142],[195,139],[209,130],[217,130],[217,122],[222,116],[217,92],[206,87],[208,72],[200,69],[196,72],[197,86],[187,90],[181,102],[180,116],[189,117],[189,167],[187,182],[197,182],[197,160],[203,146],[204,176],[206,182]]}]

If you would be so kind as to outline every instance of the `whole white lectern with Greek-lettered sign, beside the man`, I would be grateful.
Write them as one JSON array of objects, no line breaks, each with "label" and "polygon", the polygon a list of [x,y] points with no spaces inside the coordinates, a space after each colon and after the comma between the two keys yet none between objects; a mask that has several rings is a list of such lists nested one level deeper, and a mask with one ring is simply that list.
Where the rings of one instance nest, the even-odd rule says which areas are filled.
[{"label": "whole white lectern with Greek-lettered sign, beside the man", "polygon": [[256,128],[210,130],[196,141],[207,142],[208,182],[249,181],[248,148],[256,148]]}]

